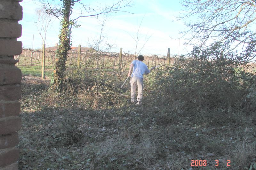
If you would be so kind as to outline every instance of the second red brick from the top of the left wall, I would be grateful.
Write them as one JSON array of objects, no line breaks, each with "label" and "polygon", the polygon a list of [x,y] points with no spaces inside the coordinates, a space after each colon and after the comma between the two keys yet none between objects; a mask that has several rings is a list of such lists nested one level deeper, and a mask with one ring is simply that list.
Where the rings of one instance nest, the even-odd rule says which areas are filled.
[{"label": "second red brick from the top of the left wall", "polygon": [[22,26],[16,21],[0,21],[0,37],[19,38]]}]

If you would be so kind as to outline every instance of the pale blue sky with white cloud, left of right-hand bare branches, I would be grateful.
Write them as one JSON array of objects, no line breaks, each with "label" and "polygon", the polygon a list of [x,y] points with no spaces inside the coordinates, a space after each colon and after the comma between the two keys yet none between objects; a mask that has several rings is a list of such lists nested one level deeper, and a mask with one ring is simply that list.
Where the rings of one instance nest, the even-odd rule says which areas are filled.
[{"label": "pale blue sky with white cloud, left of right-hand bare branches", "polygon": [[[90,4],[90,8],[96,8],[97,4],[110,5],[114,1],[82,0],[80,2]],[[23,19],[19,21],[22,25],[22,36],[18,41],[22,41],[23,48],[41,48],[42,38],[35,23],[37,21],[36,9],[40,8],[40,3],[37,0],[23,0],[20,5],[23,7]],[[80,9],[75,5],[71,18],[76,18]],[[105,51],[108,48],[107,44],[110,44],[109,52],[119,52],[119,49],[123,48],[123,52],[134,54],[136,49],[134,39],[137,38],[137,34],[139,35],[137,55],[166,56],[167,49],[170,48],[171,56],[173,56],[187,54],[192,50],[191,46],[183,45],[185,40],[180,38],[182,37],[180,30],[185,29],[183,21],[174,21],[175,16],[178,16],[182,10],[179,1],[133,0],[133,5],[123,10],[128,12],[113,12],[108,15],[102,31],[100,50]],[[102,18],[103,16],[98,19],[95,17],[79,18],[77,23],[80,26],[72,29],[72,47],[77,47],[79,44],[82,47],[94,46],[100,39]],[[46,33],[46,47],[59,43],[59,34],[60,20],[52,18]]]}]

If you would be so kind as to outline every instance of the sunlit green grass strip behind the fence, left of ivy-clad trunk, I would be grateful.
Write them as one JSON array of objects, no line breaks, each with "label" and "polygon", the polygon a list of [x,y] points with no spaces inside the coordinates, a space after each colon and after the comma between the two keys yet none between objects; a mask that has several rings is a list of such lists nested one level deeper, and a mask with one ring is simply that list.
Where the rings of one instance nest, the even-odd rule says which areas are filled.
[{"label": "sunlit green grass strip behind the fence, left of ivy-clad trunk", "polygon": [[[42,76],[42,66],[41,65],[28,65],[28,66],[17,66],[23,76],[35,76],[41,77]],[[45,69],[45,76],[50,77],[52,74],[53,69]]]}]

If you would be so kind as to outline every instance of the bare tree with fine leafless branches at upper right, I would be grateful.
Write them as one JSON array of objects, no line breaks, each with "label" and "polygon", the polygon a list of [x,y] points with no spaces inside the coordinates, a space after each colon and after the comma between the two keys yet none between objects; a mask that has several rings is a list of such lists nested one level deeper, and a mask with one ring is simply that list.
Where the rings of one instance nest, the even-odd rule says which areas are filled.
[{"label": "bare tree with fine leafless branches at upper right", "polygon": [[[177,18],[183,19],[188,29],[181,33],[190,34],[187,39],[190,45],[205,47],[215,41],[228,44],[229,48],[226,50],[246,49],[251,51],[247,55],[254,56],[255,2],[254,0],[182,0],[181,4],[185,9]],[[190,18],[193,21],[186,22]]]}]

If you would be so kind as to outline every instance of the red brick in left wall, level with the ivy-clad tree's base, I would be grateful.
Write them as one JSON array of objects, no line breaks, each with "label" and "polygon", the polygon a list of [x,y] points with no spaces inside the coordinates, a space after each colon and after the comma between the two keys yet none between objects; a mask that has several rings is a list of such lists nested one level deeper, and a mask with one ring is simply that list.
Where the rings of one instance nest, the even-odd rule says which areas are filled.
[{"label": "red brick in left wall, level with the ivy-clad tree's base", "polygon": [[0,85],[0,100],[14,101],[20,98],[20,85]]}]

